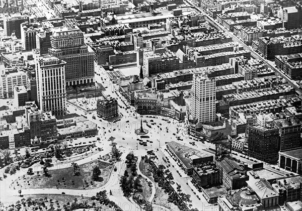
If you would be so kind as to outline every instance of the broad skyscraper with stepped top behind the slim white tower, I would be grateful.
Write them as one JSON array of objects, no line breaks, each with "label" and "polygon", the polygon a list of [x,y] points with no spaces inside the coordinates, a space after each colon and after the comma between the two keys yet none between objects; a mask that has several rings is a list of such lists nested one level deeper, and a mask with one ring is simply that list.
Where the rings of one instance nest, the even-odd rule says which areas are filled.
[{"label": "broad skyscraper with stepped top behind the slim white tower", "polygon": [[66,62],[66,89],[94,86],[94,52],[84,43],[83,32],[78,28],[53,29],[48,54]]}]

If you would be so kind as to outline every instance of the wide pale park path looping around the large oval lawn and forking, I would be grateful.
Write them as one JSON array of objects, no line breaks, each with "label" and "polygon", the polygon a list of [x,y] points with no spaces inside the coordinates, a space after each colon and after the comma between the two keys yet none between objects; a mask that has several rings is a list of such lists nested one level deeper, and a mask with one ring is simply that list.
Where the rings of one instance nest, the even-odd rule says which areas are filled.
[{"label": "wide pale park path looping around the large oval lawn and forking", "polygon": [[[92,160],[98,159],[100,156],[103,156],[107,154],[107,152],[102,151],[100,153],[97,153],[95,155],[92,155],[91,157],[84,158],[82,160],[77,161],[79,165],[88,163]],[[102,190],[107,190],[112,191],[112,195],[107,194],[108,198],[112,201],[114,201],[121,209],[123,210],[140,210],[140,207],[135,203],[130,200],[128,200],[125,196],[123,196],[122,190],[120,189],[119,186],[119,176],[123,174],[123,172],[126,169],[126,152],[123,152],[120,161],[118,161],[115,164],[115,167],[117,168],[117,171],[112,171],[109,180],[99,188],[95,189],[84,189],[84,190],[79,190],[79,189],[60,189],[60,188],[33,188],[33,189],[21,189],[22,190],[22,195],[32,195],[32,194],[62,194],[64,192],[65,194],[69,195],[78,195],[81,196],[95,196],[97,192],[100,192]],[[62,169],[62,168],[68,168],[71,166],[71,163],[63,164],[63,165],[54,165],[53,167],[49,169]],[[42,171],[42,166],[37,164],[35,166],[32,166],[34,168],[34,171]],[[27,173],[28,168],[26,169],[21,169],[20,171],[16,172],[16,174],[10,175],[8,178],[0,181],[0,186],[1,186],[1,191],[0,191],[0,198],[1,202],[3,203],[4,206],[8,206],[17,200],[20,200],[20,196],[18,193],[18,189],[12,189],[10,188],[11,183],[18,179],[18,177],[23,176],[24,174]]]}]

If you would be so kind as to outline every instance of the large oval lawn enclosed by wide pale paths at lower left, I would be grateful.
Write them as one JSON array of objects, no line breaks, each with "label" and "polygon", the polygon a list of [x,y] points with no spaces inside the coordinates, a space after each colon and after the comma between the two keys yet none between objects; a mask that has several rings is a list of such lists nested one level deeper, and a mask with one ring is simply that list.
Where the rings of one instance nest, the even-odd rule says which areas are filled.
[{"label": "large oval lawn enclosed by wide pale paths at lower left", "polygon": [[[93,181],[92,170],[93,167],[98,165],[103,177],[103,180]],[[113,165],[98,160],[80,165],[79,176],[73,173],[73,167],[49,170],[49,177],[43,175],[43,172],[35,172],[34,175],[24,175],[18,178],[12,184],[12,188],[25,189],[25,188],[63,188],[63,189],[92,189],[104,185],[111,174]],[[63,180],[64,179],[64,180]]]}]

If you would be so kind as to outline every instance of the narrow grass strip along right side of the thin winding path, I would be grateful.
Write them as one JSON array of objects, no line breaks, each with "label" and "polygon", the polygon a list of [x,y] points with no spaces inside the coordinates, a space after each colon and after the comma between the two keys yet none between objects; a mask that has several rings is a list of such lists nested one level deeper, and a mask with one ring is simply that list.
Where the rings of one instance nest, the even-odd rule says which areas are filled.
[{"label": "narrow grass strip along right side of the thin winding path", "polygon": [[145,163],[143,160],[141,160],[139,163],[139,169],[141,173],[147,176],[153,182],[153,185],[155,185],[155,197],[152,201],[153,207],[155,208],[154,210],[158,210],[159,207],[157,205],[161,205],[167,207],[170,210],[178,211],[178,206],[176,206],[174,203],[168,202],[168,194],[165,193],[165,191],[161,187],[159,187],[158,183],[154,181],[152,172],[148,170],[151,169],[150,164]]}]

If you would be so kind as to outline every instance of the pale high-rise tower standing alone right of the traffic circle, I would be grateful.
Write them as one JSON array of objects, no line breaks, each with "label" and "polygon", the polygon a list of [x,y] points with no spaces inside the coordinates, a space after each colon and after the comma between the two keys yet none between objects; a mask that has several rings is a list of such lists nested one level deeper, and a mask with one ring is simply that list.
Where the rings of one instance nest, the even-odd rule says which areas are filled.
[{"label": "pale high-rise tower standing alone right of the traffic circle", "polygon": [[205,74],[194,74],[191,89],[190,119],[199,123],[215,121],[216,81]]}]

